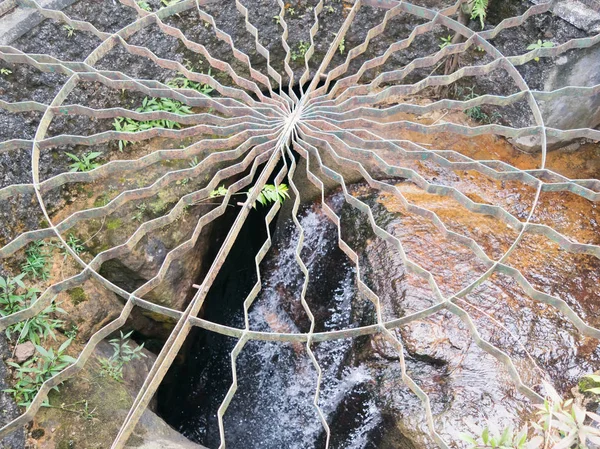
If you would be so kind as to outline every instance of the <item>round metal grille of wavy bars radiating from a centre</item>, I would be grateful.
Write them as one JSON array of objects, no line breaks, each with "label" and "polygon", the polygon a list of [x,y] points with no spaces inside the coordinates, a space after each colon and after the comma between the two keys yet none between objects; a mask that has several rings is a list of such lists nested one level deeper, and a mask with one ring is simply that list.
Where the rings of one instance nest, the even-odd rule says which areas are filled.
[{"label": "round metal grille of wavy bars radiating from a centre", "polygon": [[[506,263],[522,239],[532,234],[543,236],[569,253],[600,257],[599,246],[577,242],[550,226],[532,221],[540,195],[544,192],[570,192],[590,202],[598,201],[600,181],[569,179],[548,170],[546,168],[546,154],[547,140],[550,138],[561,141],[576,138],[600,140],[600,131],[594,129],[559,130],[550,128],[544,124],[539,103],[564,95],[588,97],[598,94],[600,86],[566,87],[552,92],[533,90],[529,88],[517,70],[517,67],[532,63],[535,58],[559,57],[572,50],[592,47],[600,42],[600,35],[572,39],[553,48],[536,49],[517,56],[505,56],[489,41],[504,30],[519,27],[531,17],[548,12],[552,7],[552,2],[533,6],[520,16],[502,21],[493,29],[475,32],[456,20],[457,12],[461,8],[461,1],[445,9],[430,9],[404,1],[357,0],[345,10],[343,22],[337,33],[333,38],[329,36],[330,42],[327,51],[317,56],[316,44],[319,39],[325,39],[319,34],[320,24],[326,20],[325,4],[321,0],[311,12],[313,24],[309,31],[307,42],[309,46],[304,55],[304,67],[300,70],[296,67],[296,70],[294,70],[292,69],[292,56],[295,51],[295,44],[288,42],[288,24],[286,22],[289,17],[289,5],[286,6],[282,0],[277,0],[279,10],[275,10],[274,14],[279,17],[280,23],[278,25],[281,30],[281,46],[285,52],[285,59],[274,61],[267,48],[261,43],[263,42],[261,40],[261,30],[253,25],[248,7],[245,6],[243,1],[236,0],[235,7],[245,21],[246,31],[254,39],[256,54],[266,60],[266,63],[261,65],[261,70],[258,70],[252,66],[251,58],[236,47],[232,37],[221,29],[213,16],[207,12],[205,1],[183,0],[155,12],[141,9],[138,3],[131,0],[119,1],[125,7],[134,10],[137,17],[124,28],[114,32],[101,31],[90,22],[75,20],[61,11],[44,8],[35,0],[18,0],[16,2],[6,0],[0,4],[0,13],[6,13],[14,7],[32,8],[46,19],[68,25],[76,33],[89,33],[100,41],[100,44],[83,62],[61,60],[50,55],[28,54],[10,46],[0,48],[0,59],[7,63],[28,65],[41,72],[58,73],[64,75],[66,80],[49,104],[36,101],[0,101],[0,108],[10,113],[34,111],[42,116],[34,138],[12,139],[0,143],[0,151],[2,152],[17,150],[31,152],[31,182],[3,187],[0,189],[0,200],[7,201],[20,195],[34,195],[48,223],[48,226],[44,228],[28,230],[10,239],[0,249],[0,257],[9,258],[31,242],[56,238],[60,240],[69,256],[80,265],[79,274],[54,283],[41,294],[37,302],[31,307],[0,319],[0,326],[5,329],[7,326],[33,317],[44,310],[57,293],[79,286],[88,279],[95,279],[107,289],[114,291],[123,298],[127,298],[120,317],[107,324],[90,338],[80,353],[76,364],[46,381],[27,411],[4,426],[0,430],[0,436],[7,435],[17,427],[31,421],[49,390],[79,371],[90,358],[94,347],[102,339],[119,329],[134,307],[170,317],[176,321],[176,325],[152,366],[150,374],[139,391],[129,414],[122,423],[121,430],[113,443],[113,448],[124,447],[141,414],[148,406],[161,380],[182,347],[186,336],[194,326],[234,337],[238,341],[231,353],[233,384],[218,411],[222,447],[225,447],[226,443],[223,416],[227,412],[237,388],[236,358],[244,345],[250,340],[295,342],[305,345],[306,353],[319,374],[318,382],[315,385],[314,404],[323,428],[329,436],[326,417],[318,406],[321,368],[312,352],[313,343],[380,334],[397,349],[403,374],[402,379],[422,401],[426,411],[426,424],[431,436],[440,447],[447,448],[449,447],[448,442],[444,441],[436,431],[428,395],[411,379],[406,371],[402,343],[397,335],[392,332],[393,329],[423,319],[441,310],[447,310],[457,315],[470,329],[474,342],[506,367],[519,392],[534,403],[542,401],[542,397],[531,386],[523,383],[509,355],[480,337],[471,316],[460,306],[460,298],[468,295],[493,274],[502,273],[514,279],[533,300],[549,304],[562,312],[581,334],[594,339],[600,338],[600,329],[586,323],[567,304],[564,298],[536,289],[518,269]],[[344,45],[347,33],[351,30],[353,21],[361,8],[372,8],[373,11],[379,11],[381,19],[376,26],[368,30],[360,45],[348,49],[340,58],[340,46]],[[169,25],[170,18],[182,13],[196,14],[197,20],[206,24],[206,29],[227,48],[228,56],[231,57],[229,62],[220,59],[223,58],[223,55],[216,54],[202,43],[188,39],[182,30]],[[363,57],[373,41],[380,36],[385,36],[388,22],[398,15],[412,15],[421,20],[422,23],[416,26],[405,39],[388,45],[385,51],[380,54],[368,59]],[[210,65],[213,74],[194,72],[181,62],[159,57],[149,48],[132,44],[132,37],[148,27],[154,27],[160,33],[164,33],[165,36],[179,40],[189,52],[201,55]],[[419,36],[432,33],[433,30],[439,29],[439,27],[447,29],[449,33],[462,35],[464,40],[457,44],[445,46],[434,54],[416,58],[401,67],[391,69],[389,65],[386,65],[388,59],[396,52],[401,52],[416,45]],[[114,67],[112,70],[97,68],[98,62],[116,47],[121,47],[131,55],[146,58],[164,69],[180,72],[194,82],[209,85],[214,89],[214,93],[211,96],[206,96],[189,89],[171,88],[157,80],[133,78],[119,71],[119,67]],[[463,66],[449,75],[425,76],[417,82],[405,84],[405,80],[416,70],[423,68],[431,70],[440,62],[445,61],[446,58],[462,54],[475,47],[479,47],[485,55],[479,61]],[[235,64],[231,64],[231,61],[235,61]],[[240,67],[243,68],[243,73],[238,73],[242,72]],[[503,70],[512,78],[517,86],[514,93],[508,95],[488,94],[465,101],[442,99],[429,104],[403,101],[403,99],[411,95],[417,95],[426,89],[443,88],[465,77],[485,77],[496,70]],[[230,83],[219,81],[219,78],[215,75],[216,73],[229,77]],[[365,76],[367,73],[371,73],[370,78]],[[372,73],[375,73],[375,75],[372,75]],[[151,97],[171,98],[207,112],[179,116],[162,111],[135,112],[123,107],[95,109],[83,105],[68,104],[69,94],[81,82],[96,82],[112,89],[135,91]],[[296,85],[299,88],[295,90]],[[404,118],[406,114],[421,115],[433,111],[462,111],[481,105],[509,107],[519,102],[526,104],[529,109],[533,118],[532,125],[513,128],[498,124],[480,126],[446,122],[422,124]],[[49,135],[49,127],[57,117],[76,115],[94,119],[114,119],[116,117],[130,117],[136,120],[167,119],[176,121],[183,127],[181,129],[153,128],[137,133],[109,130],[88,136]],[[422,135],[434,136],[437,133],[451,133],[469,138],[485,135],[504,138],[531,136],[539,139],[541,143],[541,158],[538,167],[523,170],[501,160],[476,160],[456,151],[435,148],[435,145],[420,145],[411,142],[410,139],[390,140],[386,138],[386,130],[391,128],[397,129],[399,132],[418,132]],[[212,135],[212,137],[204,138],[206,135]],[[170,139],[190,138],[193,143],[183,149],[153,151],[137,160],[112,160],[89,172],[61,173],[47,179],[42,179],[40,176],[40,155],[45,149],[75,145],[94,147],[98,144],[111,141],[114,143],[119,140],[143,142],[159,137]],[[535,190],[535,197],[524,218],[519,218],[514,211],[507,210],[507,208],[474,201],[456,187],[431,182],[418,170],[411,168],[412,165],[409,167],[410,164],[408,163],[406,166],[402,166],[402,164],[391,165],[380,155],[382,151],[393,152],[399,160],[433,161],[452,170],[474,170],[495,181],[515,182],[529,186]],[[130,171],[141,172],[145,167],[159,161],[192,160],[195,157],[200,158],[197,165],[190,168],[169,170],[147,187],[128,188],[118,192],[117,196],[103,206],[80,210],[61,220],[53,219],[52,214],[47,210],[46,197],[48,193],[69,183],[92,183],[109,175]],[[339,247],[355,264],[356,282],[359,291],[361,295],[372,301],[377,311],[377,321],[372,325],[330,332],[314,332],[315,319],[304,297],[309,272],[301,258],[303,230],[297,218],[301,204],[301,193],[294,183],[294,174],[298,168],[296,160],[300,161],[299,163],[303,167],[306,167],[308,180],[321,192],[323,211],[338,228],[337,242]],[[219,167],[219,169],[216,170],[215,167]],[[443,294],[432,273],[411,260],[410,254],[404,251],[401,241],[377,224],[370,207],[348,192],[346,179],[343,174],[336,171],[336,167],[359,172],[371,188],[394,196],[408,212],[431,220],[438,231],[446,238],[469,248],[473,252],[485,265],[486,271],[484,274],[451,295]],[[209,170],[213,171],[210,172]],[[182,195],[168,214],[141,223],[124,243],[100,252],[93,260],[84,260],[67,245],[66,233],[78,226],[79,223],[85,220],[102,219],[112,211],[127,206],[128,203],[156,194],[173,182],[209,172],[214,173],[214,176],[202,188]],[[374,172],[377,172],[379,176],[375,176]],[[489,253],[474,239],[446,227],[435,212],[411,204],[397,187],[380,181],[382,173],[388,177],[409,180],[428,193],[452,198],[472,213],[492,216],[495,220],[516,230],[517,237],[508,250],[504,251],[499,257],[490,257]],[[238,180],[229,186],[227,195],[223,198],[221,204],[202,215],[189,239],[169,251],[154,278],[135,291],[125,291],[99,274],[100,267],[105,261],[128,252],[153,230],[176,222],[186,207],[207,198],[210,192],[221,185],[224,180],[236,175],[239,175]],[[258,332],[250,329],[248,310],[261,290],[260,263],[271,247],[270,234],[255,258],[258,282],[244,301],[245,327],[227,327],[198,317],[217,273],[236,241],[242,225],[251,213],[252,204],[255,202],[260,189],[273,177],[276,184],[287,182],[294,193],[292,219],[301,236],[297,246],[296,261],[305,275],[305,288],[298,300],[302,303],[311,321],[310,331],[306,333]],[[375,235],[396,248],[408,271],[422,278],[430,286],[437,301],[433,306],[395,320],[384,320],[377,292],[370,289],[361,278],[358,254],[341,237],[340,217],[325,201],[326,186],[324,181],[341,187],[345,201],[353,208],[366,214]],[[159,284],[170,264],[177,260],[178,256],[194,247],[203,228],[224,214],[232,195],[251,184],[254,186],[252,193],[241,207],[214,262],[185,310],[175,310],[144,299],[145,295]],[[274,203],[266,215],[265,226],[267,232],[269,224],[280,208],[280,203]]]}]

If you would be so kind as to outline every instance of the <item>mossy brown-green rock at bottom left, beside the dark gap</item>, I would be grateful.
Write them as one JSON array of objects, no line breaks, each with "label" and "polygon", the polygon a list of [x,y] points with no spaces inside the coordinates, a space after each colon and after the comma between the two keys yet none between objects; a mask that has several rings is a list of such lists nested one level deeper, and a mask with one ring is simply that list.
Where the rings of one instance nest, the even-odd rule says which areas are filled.
[{"label": "mossy brown-green rock at bottom left, beside the dark gap", "polygon": [[[127,364],[123,371],[124,381],[118,382],[102,375],[99,361],[110,357],[112,352],[107,342],[101,342],[84,369],[66,381],[59,392],[50,393],[51,407],[40,409],[33,425],[39,449],[111,447],[154,360],[153,355],[144,350],[148,357]],[[83,413],[86,404],[87,416]],[[202,449],[150,410],[142,415],[126,447]]]}]

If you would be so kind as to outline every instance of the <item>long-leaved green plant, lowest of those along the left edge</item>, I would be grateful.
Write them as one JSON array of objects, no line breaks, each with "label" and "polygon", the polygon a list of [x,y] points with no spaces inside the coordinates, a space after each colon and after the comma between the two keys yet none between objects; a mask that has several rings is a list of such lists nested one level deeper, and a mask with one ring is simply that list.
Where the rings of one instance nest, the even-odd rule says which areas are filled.
[{"label": "long-leaved green plant, lowest of those along the left edge", "polygon": [[[71,339],[66,340],[60,345],[56,353],[52,349],[45,349],[40,345],[36,345],[35,349],[39,356],[35,356],[23,365],[9,362],[8,364],[15,368],[17,382],[13,388],[4,391],[12,394],[17,404],[21,407],[29,406],[46,380],[76,362],[73,357],[65,354],[71,341]],[[52,389],[58,391],[58,387],[56,386]],[[49,405],[47,400],[44,405]]]}]

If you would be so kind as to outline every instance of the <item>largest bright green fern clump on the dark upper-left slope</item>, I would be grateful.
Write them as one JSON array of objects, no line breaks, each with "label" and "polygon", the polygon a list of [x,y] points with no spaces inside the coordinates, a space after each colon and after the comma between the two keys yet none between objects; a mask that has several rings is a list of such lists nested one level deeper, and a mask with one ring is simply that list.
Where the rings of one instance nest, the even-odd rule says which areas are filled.
[{"label": "largest bright green fern clump on the dark upper-left slope", "polygon": [[[188,80],[189,81],[189,80]],[[190,81],[192,82],[192,81]],[[171,100],[170,98],[144,98],[142,106],[136,109],[136,112],[157,112],[165,111],[171,112],[178,115],[192,114],[192,110],[189,106],[186,106],[179,101]],[[117,117],[113,122],[113,126],[116,131],[120,132],[139,132],[146,131],[152,128],[181,128],[181,125],[177,122],[167,119],[160,120],[135,120],[129,117]],[[129,144],[126,140],[119,140],[119,150],[123,151]]]}]

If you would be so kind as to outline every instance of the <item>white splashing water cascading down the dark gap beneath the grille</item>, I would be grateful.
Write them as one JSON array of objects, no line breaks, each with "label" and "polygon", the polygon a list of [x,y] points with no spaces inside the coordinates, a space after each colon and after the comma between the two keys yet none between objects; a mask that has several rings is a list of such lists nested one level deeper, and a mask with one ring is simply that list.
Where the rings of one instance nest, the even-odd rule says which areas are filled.
[{"label": "white splashing water cascading down the dark gap beneath the grille", "polygon": [[[300,218],[304,229],[302,260],[312,282],[330,276],[320,273],[323,258],[332,257],[337,248],[335,228],[318,211],[308,210]],[[286,311],[285,301],[300,301],[304,277],[295,260],[298,232],[291,224],[291,237],[279,248],[272,270],[263,275],[263,291],[251,309],[251,327],[261,331],[300,332],[299,325]],[[332,237],[333,236],[333,237]],[[351,307],[356,297],[355,272],[343,270],[327,301],[322,326],[325,330],[352,327]],[[323,371],[319,406],[332,424],[345,398],[371,380],[367,368],[348,366],[351,340],[314,344],[312,349]],[[317,387],[316,370],[305,345],[249,342],[238,357],[239,389],[225,415],[227,446],[231,448],[308,449],[324,447],[323,426],[313,404]],[[332,439],[331,447],[362,449],[369,433],[381,423],[372,399],[363,397],[358,420]],[[353,409],[354,411],[354,409]],[[334,441],[335,440],[335,441]]]}]

